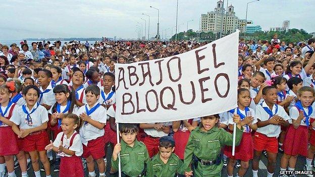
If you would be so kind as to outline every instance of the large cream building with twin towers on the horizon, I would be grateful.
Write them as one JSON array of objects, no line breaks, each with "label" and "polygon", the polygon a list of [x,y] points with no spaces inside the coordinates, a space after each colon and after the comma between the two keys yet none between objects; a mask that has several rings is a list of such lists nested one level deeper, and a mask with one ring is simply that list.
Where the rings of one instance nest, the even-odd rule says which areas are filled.
[{"label": "large cream building with twin towers on the horizon", "polygon": [[[222,12],[223,18],[222,18]],[[201,14],[201,31],[204,32],[220,32],[221,24],[223,23],[223,32],[230,34],[239,29],[241,33],[245,32],[245,19],[238,19],[235,16],[234,7],[230,5],[226,11],[223,7],[223,2],[220,0],[217,2],[215,11],[208,12],[207,14]]]}]

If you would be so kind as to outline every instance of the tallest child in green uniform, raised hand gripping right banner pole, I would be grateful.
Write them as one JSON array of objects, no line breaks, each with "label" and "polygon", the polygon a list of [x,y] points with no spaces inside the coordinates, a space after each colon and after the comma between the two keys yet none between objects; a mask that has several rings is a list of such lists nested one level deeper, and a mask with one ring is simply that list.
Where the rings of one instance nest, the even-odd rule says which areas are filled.
[{"label": "tallest child in green uniform, raised hand gripping right banner pole", "polygon": [[[216,124],[219,121],[219,115],[208,115],[201,117],[200,126],[195,128],[188,139],[183,171],[186,176],[221,176],[222,154],[221,147],[224,145],[232,146],[233,135],[223,129],[219,129]],[[243,129],[239,115],[234,115],[233,121],[237,124],[236,146],[240,143]],[[208,153],[204,153],[207,147]],[[211,153],[210,153],[211,152]],[[192,166],[192,171],[190,169]]]}]

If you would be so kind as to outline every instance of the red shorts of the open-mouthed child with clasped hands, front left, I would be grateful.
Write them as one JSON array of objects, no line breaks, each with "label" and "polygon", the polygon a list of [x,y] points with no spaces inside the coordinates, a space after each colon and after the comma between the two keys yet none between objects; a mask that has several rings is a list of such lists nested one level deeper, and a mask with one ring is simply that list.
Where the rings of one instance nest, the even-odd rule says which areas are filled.
[{"label": "red shorts of the open-mouthed child with clasped hands, front left", "polygon": [[45,151],[45,147],[49,144],[46,131],[39,131],[29,134],[23,140],[23,149],[26,152]]}]

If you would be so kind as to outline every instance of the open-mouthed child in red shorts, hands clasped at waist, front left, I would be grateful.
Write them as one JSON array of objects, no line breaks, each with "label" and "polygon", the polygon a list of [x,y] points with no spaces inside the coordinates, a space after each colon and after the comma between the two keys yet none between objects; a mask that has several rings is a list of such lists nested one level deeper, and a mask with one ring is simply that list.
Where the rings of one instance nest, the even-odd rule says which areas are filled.
[{"label": "open-mouthed child in red shorts, hands clasped at waist, front left", "polygon": [[[13,112],[10,121],[12,130],[23,139],[23,149],[29,152],[36,177],[40,177],[39,163],[44,166],[46,176],[50,177],[50,164],[46,156],[45,146],[49,144],[47,132],[48,114],[45,107],[37,103],[39,89],[28,86],[23,90],[26,104]],[[19,127],[18,127],[19,126]]]}]

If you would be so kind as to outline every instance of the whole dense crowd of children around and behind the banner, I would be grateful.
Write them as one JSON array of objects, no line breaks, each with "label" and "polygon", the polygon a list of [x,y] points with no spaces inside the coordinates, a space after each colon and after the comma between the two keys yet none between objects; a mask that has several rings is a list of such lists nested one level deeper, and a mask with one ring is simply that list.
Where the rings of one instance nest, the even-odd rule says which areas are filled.
[{"label": "whole dense crowd of children around and behind the banner", "polygon": [[[69,51],[53,49],[60,55],[51,51],[36,62],[30,58],[25,62],[23,53],[12,55],[12,64],[7,62],[0,75],[0,141],[5,142],[0,144],[0,176],[26,177],[31,165],[36,177],[40,171],[51,176],[50,169],[59,176],[102,177],[109,161],[110,173],[118,171],[120,158],[123,176],[221,176],[226,167],[229,177],[236,171],[237,176],[257,177],[261,154],[268,158],[268,177],[276,168],[295,170],[298,155],[306,159],[304,170],[312,170],[315,40],[308,40],[305,47],[310,49],[301,51],[303,58],[286,57],[292,55],[286,53],[291,48],[280,51],[279,41],[274,36],[266,48],[241,39],[238,107],[183,121],[119,124],[119,130],[114,64],[154,60],[178,51],[160,53],[150,43],[132,42],[119,42],[111,49],[106,46],[112,41],[102,41],[87,53],[77,53],[71,46],[65,47]],[[137,47],[140,52],[134,53]],[[266,51],[260,51],[263,47]],[[279,152],[283,155],[277,164]],[[15,173],[18,166],[21,174]]]}]

